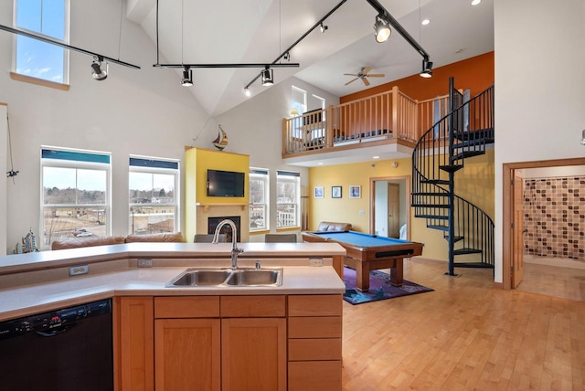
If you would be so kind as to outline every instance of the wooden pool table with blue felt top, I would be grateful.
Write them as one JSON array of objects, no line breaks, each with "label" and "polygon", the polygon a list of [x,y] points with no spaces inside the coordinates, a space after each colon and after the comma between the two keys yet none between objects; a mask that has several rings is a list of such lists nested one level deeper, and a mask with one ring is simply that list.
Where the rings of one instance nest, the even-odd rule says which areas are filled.
[{"label": "wooden pool table with blue felt top", "polygon": [[369,272],[390,269],[390,282],[401,286],[403,261],[422,254],[422,243],[378,237],[356,231],[303,232],[303,242],[332,241],[346,248],[344,263],[356,269],[356,289],[369,290]]}]

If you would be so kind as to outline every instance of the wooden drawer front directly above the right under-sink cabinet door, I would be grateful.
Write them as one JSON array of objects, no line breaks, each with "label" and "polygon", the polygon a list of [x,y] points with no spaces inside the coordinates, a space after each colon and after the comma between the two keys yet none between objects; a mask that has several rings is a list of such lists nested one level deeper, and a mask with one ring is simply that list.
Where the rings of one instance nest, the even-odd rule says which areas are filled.
[{"label": "wooden drawer front directly above the right under-sink cabinet door", "polygon": [[222,296],[221,317],[283,317],[286,314],[284,296]]}]

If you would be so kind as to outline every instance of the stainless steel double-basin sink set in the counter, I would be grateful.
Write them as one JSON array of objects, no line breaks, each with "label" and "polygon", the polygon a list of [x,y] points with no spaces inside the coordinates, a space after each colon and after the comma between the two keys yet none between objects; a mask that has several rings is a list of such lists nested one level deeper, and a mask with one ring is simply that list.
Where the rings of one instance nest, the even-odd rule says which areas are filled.
[{"label": "stainless steel double-basin sink set in the counter", "polygon": [[276,287],[282,285],[282,268],[214,269],[190,268],[170,280],[166,288],[186,287]]}]

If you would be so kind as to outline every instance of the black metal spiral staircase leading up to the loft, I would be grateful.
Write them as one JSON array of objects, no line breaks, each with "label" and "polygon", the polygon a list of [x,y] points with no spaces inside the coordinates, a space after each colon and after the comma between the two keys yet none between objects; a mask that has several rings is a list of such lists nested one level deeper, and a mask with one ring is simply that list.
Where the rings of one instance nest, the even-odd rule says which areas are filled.
[{"label": "black metal spiral staircase leading up to the loft", "polygon": [[494,143],[494,86],[465,102],[452,78],[449,90],[449,114],[422,135],[412,153],[411,206],[427,227],[443,232],[446,274],[455,275],[454,268],[494,269],[494,221],[455,194],[455,173]]}]

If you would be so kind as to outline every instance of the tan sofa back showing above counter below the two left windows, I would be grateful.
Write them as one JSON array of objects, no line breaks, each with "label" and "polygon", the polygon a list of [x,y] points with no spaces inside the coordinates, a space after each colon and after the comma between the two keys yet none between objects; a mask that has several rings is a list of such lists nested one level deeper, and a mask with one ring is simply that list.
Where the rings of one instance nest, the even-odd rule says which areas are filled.
[{"label": "tan sofa back showing above counter below the two left windows", "polygon": [[65,248],[80,248],[114,245],[134,242],[183,242],[183,235],[180,232],[176,233],[160,233],[160,234],[131,234],[127,237],[111,236],[111,237],[87,237],[87,238],[66,238],[55,240],[51,243],[51,249],[65,249]]}]

